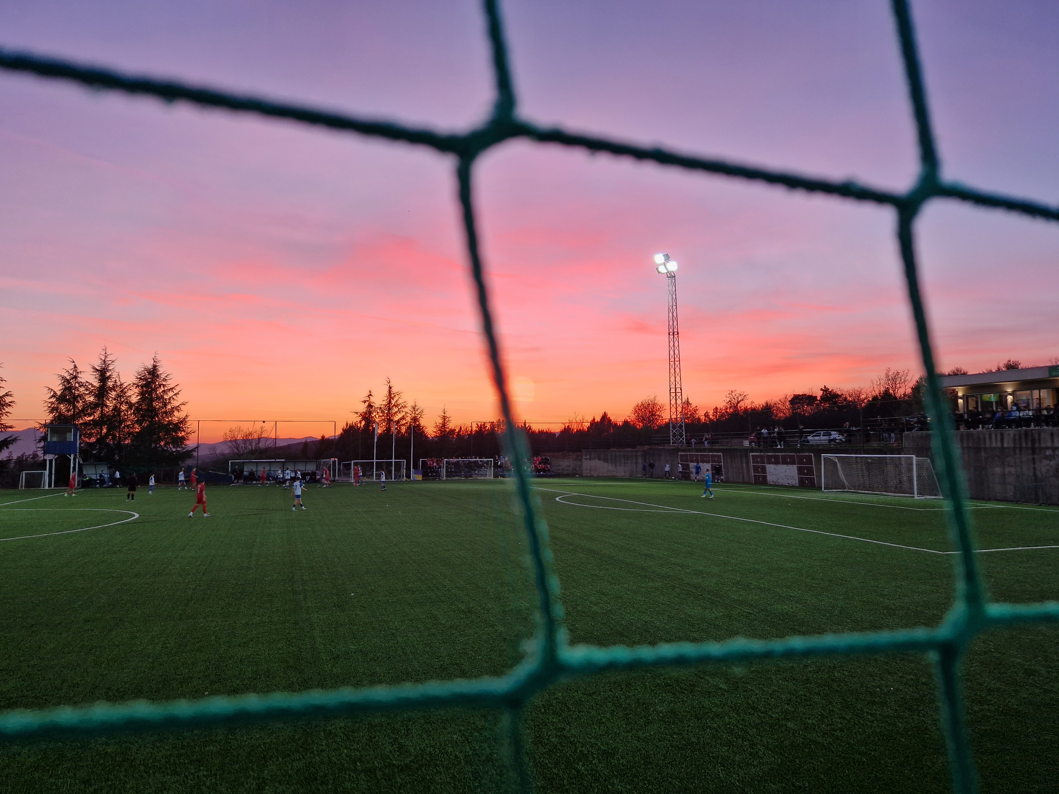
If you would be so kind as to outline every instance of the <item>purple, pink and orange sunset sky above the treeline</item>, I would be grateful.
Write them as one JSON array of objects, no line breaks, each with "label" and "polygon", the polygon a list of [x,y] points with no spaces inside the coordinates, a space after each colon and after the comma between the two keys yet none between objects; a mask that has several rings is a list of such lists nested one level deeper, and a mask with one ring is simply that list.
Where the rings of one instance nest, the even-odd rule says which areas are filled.
[{"label": "purple, pink and orange sunset sky above the treeline", "polygon": [[[915,177],[883,0],[503,7],[532,120],[887,188]],[[1059,204],[1059,4],[913,11],[946,175]],[[473,0],[21,0],[0,5],[0,47],[452,130],[491,102]],[[198,418],[341,423],[388,376],[431,422],[496,415],[449,159],[10,73],[0,107],[16,417],[104,345],[125,377],[157,351]],[[659,251],[680,261],[700,408],[918,368],[884,209],[524,142],[486,155],[475,187],[524,418],[664,398]],[[1059,224],[935,203],[917,229],[944,367],[1059,356]]]}]

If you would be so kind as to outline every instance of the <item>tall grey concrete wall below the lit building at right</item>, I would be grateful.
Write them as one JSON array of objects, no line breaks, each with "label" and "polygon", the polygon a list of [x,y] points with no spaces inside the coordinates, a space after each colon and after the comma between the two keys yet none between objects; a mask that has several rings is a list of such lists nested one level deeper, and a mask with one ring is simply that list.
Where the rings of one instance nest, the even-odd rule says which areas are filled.
[{"label": "tall grey concrete wall below the lit building at right", "polygon": [[[932,433],[905,433],[905,454],[934,459]],[[971,499],[1059,505],[1059,429],[956,432]]]}]

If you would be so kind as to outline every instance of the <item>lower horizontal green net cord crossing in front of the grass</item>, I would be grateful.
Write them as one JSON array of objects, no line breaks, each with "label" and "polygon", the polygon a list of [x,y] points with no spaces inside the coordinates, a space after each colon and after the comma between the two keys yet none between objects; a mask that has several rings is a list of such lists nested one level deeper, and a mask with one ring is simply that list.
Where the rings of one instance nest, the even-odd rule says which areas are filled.
[{"label": "lower horizontal green net cord crossing in front of the grass", "polygon": [[[1059,622],[1059,601],[991,603],[986,610],[986,620],[993,626]],[[934,629],[819,634],[783,639],[736,637],[721,642],[643,646],[561,646],[555,664],[545,666],[539,662],[524,662],[498,678],[14,710],[0,715],[0,739],[18,741],[60,734],[165,730],[176,726],[186,728],[452,707],[501,708],[525,702],[535,692],[559,681],[609,670],[809,656],[936,652],[965,633],[966,617],[963,620],[947,620]]]}]

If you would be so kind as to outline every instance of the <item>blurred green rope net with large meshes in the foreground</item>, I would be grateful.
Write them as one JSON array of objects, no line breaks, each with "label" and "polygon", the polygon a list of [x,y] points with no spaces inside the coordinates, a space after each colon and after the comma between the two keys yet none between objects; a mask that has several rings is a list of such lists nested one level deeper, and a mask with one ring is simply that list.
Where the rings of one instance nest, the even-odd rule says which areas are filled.
[{"label": "blurred green rope net with large meshes in the foreground", "polygon": [[0,67],[12,72],[69,80],[93,90],[113,90],[148,95],[167,103],[184,102],[252,113],[272,119],[402,141],[424,146],[451,158],[466,234],[466,253],[473,276],[474,297],[506,425],[505,444],[511,459],[525,459],[526,450],[513,416],[504,357],[497,338],[490,304],[489,281],[479,249],[472,176],[475,161],[489,148],[510,139],[566,146],[588,152],[653,162],[662,166],[748,180],[790,190],[834,196],[847,201],[890,207],[903,264],[908,300],[927,373],[926,401],[933,420],[934,459],[937,480],[947,503],[947,519],[956,567],[956,588],[948,613],[933,628],[898,631],[788,636],[752,640],[665,643],[636,648],[571,645],[563,628],[563,608],[558,579],[551,571],[552,552],[548,529],[531,492],[528,474],[516,467],[514,488],[521,508],[525,540],[532,558],[536,588],[536,630],[531,650],[506,674],[469,681],[444,681],[415,685],[341,688],[293,693],[263,693],[208,698],[178,702],[97,703],[0,714],[0,736],[7,740],[65,736],[87,738],[127,730],[175,730],[255,721],[305,720],[337,715],[423,710],[472,706],[497,709],[503,715],[503,757],[514,788],[528,790],[531,776],[524,761],[522,718],[525,705],[556,683],[610,670],[734,663],[808,656],[922,653],[936,672],[938,707],[945,727],[953,788],[957,792],[977,789],[968,729],[964,715],[961,665],[968,646],[983,631],[1013,624],[1059,621],[1059,602],[1001,603],[990,600],[975,560],[974,534],[966,486],[955,446],[948,405],[941,396],[934,354],[920,291],[916,261],[915,221],[920,210],[935,199],[967,202],[1006,210],[1045,220],[1059,220],[1059,209],[1030,200],[975,190],[943,176],[931,127],[930,108],[920,71],[913,23],[907,0],[892,0],[897,41],[903,60],[911,109],[919,149],[919,175],[905,193],[873,187],[856,181],[838,182],[800,176],[793,172],[766,169],[719,159],[680,154],[664,147],[641,146],[605,137],[575,133],[559,127],[543,127],[522,118],[517,110],[515,85],[497,0],[484,0],[486,34],[491,46],[496,102],[491,115],[462,134],[409,127],[356,115],[238,95],[178,80],[122,74],[68,60],[24,52],[0,50]]}]

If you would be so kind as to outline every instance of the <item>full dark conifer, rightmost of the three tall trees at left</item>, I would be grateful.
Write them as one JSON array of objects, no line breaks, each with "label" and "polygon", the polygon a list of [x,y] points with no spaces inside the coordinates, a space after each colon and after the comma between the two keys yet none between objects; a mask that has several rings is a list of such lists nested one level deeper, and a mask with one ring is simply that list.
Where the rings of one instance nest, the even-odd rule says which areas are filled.
[{"label": "full dark conifer, rightmost of the three tall trees at left", "polygon": [[162,368],[157,354],[149,364],[137,371],[130,385],[124,390],[124,396],[130,397],[127,408],[131,426],[129,461],[139,465],[179,465],[186,457],[191,435],[191,420],[183,412],[187,403],[178,401],[180,386]]}]

